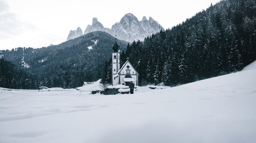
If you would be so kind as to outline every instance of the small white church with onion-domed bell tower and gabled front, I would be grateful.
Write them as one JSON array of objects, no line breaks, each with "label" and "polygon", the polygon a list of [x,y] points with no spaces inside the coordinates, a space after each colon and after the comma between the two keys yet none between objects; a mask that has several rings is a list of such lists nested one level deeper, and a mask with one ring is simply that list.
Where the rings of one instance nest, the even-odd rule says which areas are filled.
[{"label": "small white church with onion-domed bell tower and gabled front", "polygon": [[138,86],[138,72],[128,60],[120,69],[120,53],[118,52],[118,43],[115,42],[112,48],[114,50],[112,53],[112,86],[129,86],[130,82],[133,82],[135,86]]}]

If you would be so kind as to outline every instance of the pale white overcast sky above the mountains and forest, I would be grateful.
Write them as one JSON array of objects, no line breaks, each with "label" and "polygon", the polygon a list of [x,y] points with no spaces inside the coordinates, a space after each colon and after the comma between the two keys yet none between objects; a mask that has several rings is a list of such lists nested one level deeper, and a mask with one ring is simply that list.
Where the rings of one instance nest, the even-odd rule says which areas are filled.
[{"label": "pale white overcast sky above the mountains and forest", "polygon": [[0,0],[0,49],[41,48],[83,32],[92,18],[111,28],[127,14],[152,17],[164,29],[176,26],[219,0]]}]

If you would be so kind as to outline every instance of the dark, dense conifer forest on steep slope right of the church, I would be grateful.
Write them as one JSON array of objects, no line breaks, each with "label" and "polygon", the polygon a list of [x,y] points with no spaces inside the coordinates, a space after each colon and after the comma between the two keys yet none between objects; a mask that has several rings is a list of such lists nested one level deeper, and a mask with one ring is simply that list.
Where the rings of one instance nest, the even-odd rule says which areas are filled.
[{"label": "dark, dense conifer forest on steep slope right of the church", "polygon": [[[241,70],[256,60],[255,43],[256,2],[227,0],[131,43],[122,59],[137,69],[140,85],[175,86]],[[103,74],[103,80],[109,76]]]}]

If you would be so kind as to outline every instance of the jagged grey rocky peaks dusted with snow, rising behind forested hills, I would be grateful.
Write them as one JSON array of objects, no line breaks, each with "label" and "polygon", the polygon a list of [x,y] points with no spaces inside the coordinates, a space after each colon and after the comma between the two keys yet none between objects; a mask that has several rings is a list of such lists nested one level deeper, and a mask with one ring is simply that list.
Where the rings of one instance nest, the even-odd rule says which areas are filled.
[{"label": "jagged grey rocky peaks dusted with snow, rising behind forested hills", "polygon": [[115,23],[112,26],[112,29],[106,28],[101,24],[97,18],[92,19],[92,25],[88,25],[85,29],[84,35],[90,32],[102,31],[107,32],[112,36],[115,36],[118,39],[132,42],[132,41],[143,41],[147,36],[152,35],[153,33],[160,32],[164,28],[152,17],[149,17],[147,20],[146,17],[143,17],[141,21],[138,20],[135,15],[128,13],[121,18],[119,23]]}]

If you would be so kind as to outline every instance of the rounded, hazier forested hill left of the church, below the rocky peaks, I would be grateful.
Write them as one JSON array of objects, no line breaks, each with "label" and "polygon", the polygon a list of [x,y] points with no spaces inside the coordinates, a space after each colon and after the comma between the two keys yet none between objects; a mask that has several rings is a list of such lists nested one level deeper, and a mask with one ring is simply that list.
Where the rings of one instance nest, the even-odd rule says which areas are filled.
[{"label": "rounded, hazier forested hill left of the church, below the rocky peaks", "polygon": [[[46,48],[16,48],[1,51],[3,58],[37,77],[38,87],[76,88],[85,81],[100,79],[104,61],[112,56],[115,38],[92,32]],[[121,51],[127,42],[119,41]],[[38,88],[37,87],[37,88]]]}]

